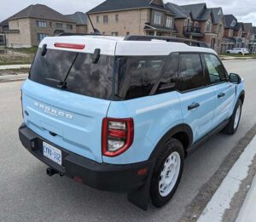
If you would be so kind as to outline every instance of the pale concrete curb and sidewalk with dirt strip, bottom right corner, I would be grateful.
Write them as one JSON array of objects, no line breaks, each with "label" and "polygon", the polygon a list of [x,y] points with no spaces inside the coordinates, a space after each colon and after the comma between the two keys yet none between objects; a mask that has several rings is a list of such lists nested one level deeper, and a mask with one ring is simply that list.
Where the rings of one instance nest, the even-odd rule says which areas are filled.
[{"label": "pale concrete curb and sidewalk with dirt strip, bottom right corner", "polygon": [[[228,218],[236,220],[237,215],[236,222],[256,221],[256,176],[254,179],[251,177],[253,185],[247,184],[247,187],[251,186],[247,194],[242,188],[243,183],[250,178],[250,170],[255,169],[253,165],[254,157],[256,157],[256,136],[253,137],[230,169],[229,174],[224,178],[222,184],[219,185],[218,190],[214,193],[210,202],[208,202],[207,207],[201,213],[197,222],[221,222],[227,221]],[[243,192],[244,196],[241,195]],[[234,201],[237,199],[241,204],[236,202],[234,205]]]}]

